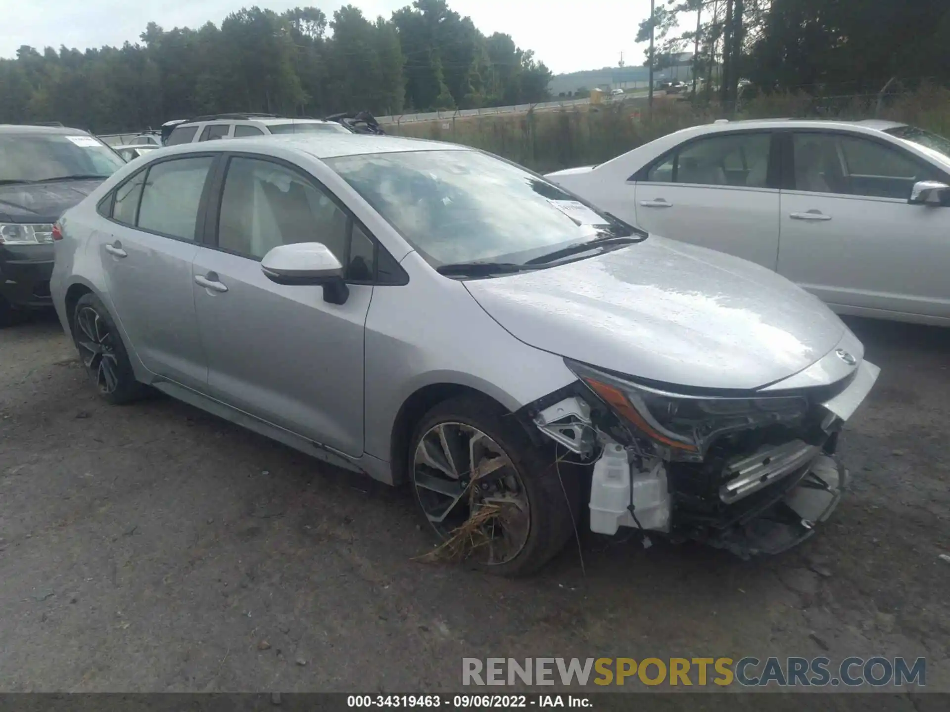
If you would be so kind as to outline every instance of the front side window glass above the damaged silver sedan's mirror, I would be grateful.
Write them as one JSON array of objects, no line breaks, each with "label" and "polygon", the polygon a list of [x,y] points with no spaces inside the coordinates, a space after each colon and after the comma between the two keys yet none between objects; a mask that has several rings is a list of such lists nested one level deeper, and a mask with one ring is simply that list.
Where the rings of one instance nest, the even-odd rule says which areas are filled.
[{"label": "front side window glass above the damaged silver sedan's mirror", "polygon": [[346,264],[348,230],[348,215],[302,174],[268,160],[228,164],[218,247],[262,259],[278,245],[322,242]]}]

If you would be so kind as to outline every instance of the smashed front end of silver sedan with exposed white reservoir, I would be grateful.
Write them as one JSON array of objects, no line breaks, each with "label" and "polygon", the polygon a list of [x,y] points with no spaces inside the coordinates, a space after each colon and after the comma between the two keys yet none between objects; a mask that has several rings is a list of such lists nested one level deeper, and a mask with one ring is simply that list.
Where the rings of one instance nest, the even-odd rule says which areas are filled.
[{"label": "smashed front end of silver sedan with exposed white reservoir", "polygon": [[830,384],[797,374],[794,387],[751,393],[674,390],[566,361],[579,384],[529,415],[589,466],[592,531],[632,527],[744,558],[779,553],[813,534],[845,489],[838,434],[880,373],[852,361],[844,374],[840,364],[814,369],[841,376]]}]

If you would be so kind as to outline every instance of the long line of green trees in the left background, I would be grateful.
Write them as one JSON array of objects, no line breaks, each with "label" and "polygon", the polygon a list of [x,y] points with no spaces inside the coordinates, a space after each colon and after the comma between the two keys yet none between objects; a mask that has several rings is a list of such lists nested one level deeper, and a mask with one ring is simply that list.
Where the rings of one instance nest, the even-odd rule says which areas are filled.
[{"label": "long line of green trees in the left background", "polygon": [[325,116],[533,103],[550,70],[507,34],[485,36],[446,0],[389,19],[352,5],[252,7],[218,27],[166,30],[85,51],[23,46],[0,60],[0,123],[63,122],[109,133],[202,114]]}]

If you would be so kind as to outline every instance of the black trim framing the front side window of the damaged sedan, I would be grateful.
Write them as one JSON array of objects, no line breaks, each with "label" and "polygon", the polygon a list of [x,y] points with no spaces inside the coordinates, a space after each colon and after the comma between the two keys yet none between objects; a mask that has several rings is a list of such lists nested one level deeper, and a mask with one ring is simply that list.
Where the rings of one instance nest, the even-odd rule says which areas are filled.
[{"label": "black trim framing the front side window of the damaged sedan", "polygon": [[[353,215],[352,210],[337,197],[332,190],[327,188],[318,178],[315,178],[313,175],[305,171],[300,166],[295,163],[278,159],[274,156],[267,156],[265,154],[259,153],[250,153],[244,151],[227,151],[220,153],[220,160],[218,161],[217,171],[206,185],[206,195],[202,195],[202,201],[205,197],[208,198],[209,202],[206,205],[203,205],[204,213],[204,224],[201,235],[200,244],[202,247],[208,248],[209,250],[215,250],[219,253],[234,254],[237,257],[243,257],[244,259],[254,260],[255,262],[260,262],[260,257],[255,257],[251,254],[238,253],[234,250],[228,250],[227,248],[220,247],[218,245],[218,224],[220,223],[221,216],[221,203],[224,199],[224,181],[227,178],[228,168],[231,166],[231,159],[255,159],[262,160],[265,162],[274,163],[279,165],[282,168],[293,171],[299,175],[304,180],[310,182],[314,188],[325,196],[329,197],[333,204],[339,208],[343,215],[347,217],[347,237],[346,237],[346,260],[343,262],[344,270],[350,269],[350,256],[352,251],[352,228],[354,225],[358,225],[359,229],[365,234],[371,241],[373,245],[372,250],[372,262],[373,262],[373,276],[369,280],[357,280],[357,279],[345,279],[344,281],[348,285],[373,285],[377,287],[402,287],[409,284],[409,274],[402,268],[399,262],[386,250],[382,243],[376,238],[376,235],[372,234],[371,230],[366,226],[366,224],[360,220],[356,215]],[[210,187],[209,187],[210,186]],[[380,264],[380,255],[382,253],[389,254],[391,264],[396,268],[398,272],[393,275],[393,278],[390,280],[382,281],[379,278],[379,264]]]}]

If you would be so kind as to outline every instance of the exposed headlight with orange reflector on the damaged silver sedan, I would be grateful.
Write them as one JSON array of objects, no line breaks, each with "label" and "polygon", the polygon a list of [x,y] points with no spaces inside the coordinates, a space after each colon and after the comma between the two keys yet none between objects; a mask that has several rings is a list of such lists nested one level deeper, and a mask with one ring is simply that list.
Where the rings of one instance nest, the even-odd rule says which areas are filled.
[{"label": "exposed headlight with orange reflector on the damaged silver sedan", "polygon": [[800,396],[733,398],[671,393],[637,384],[565,359],[604,403],[637,434],[652,440],[665,459],[700,461],[712,440],[727,433],[802,422],[808,403]]}]

